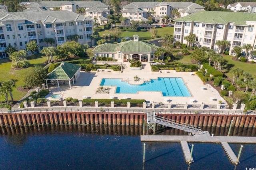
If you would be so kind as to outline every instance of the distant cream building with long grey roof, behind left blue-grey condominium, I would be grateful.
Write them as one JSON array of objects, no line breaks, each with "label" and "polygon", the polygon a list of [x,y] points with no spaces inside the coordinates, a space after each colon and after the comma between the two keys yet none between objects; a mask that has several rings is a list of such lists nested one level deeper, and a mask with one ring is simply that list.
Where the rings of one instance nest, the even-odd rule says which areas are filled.
[{"label": "distant cream building with long grey roof, behind left blue-grey condominium", "polygon": [[110,6],[100,1],[40,1],[29,4],[26,8],[27,9],[24,10],[26,12],[54,10],[56,8],[63,11],[76,12],[78,8],[84,8],[84,16],[97,18],[99,23],[107,23],[108,20],[106,16],[110,15]]}]

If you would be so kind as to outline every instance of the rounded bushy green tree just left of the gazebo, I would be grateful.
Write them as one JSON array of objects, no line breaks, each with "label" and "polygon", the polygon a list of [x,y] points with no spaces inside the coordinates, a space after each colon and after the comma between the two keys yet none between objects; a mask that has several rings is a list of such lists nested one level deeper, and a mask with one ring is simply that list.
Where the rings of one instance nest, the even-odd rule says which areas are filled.
[{"label": "rounded bushy green tree just left of the gazebo", "polygon": [[26,75],[24,82],[28,88],[41,87],[42,83],[45,82],[47,71],[40,65],[35,65],[33,70]]}]

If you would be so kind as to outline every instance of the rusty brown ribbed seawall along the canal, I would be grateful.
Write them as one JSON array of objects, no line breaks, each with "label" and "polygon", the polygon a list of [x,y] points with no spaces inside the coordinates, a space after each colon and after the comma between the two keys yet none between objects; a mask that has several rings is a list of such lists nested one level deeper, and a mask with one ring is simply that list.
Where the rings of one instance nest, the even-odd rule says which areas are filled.
[{"label": "rusty brown ribbed seawall along the canal", "polygon": [[[198,127],[256,127],[256,115],[163,114],[163,117]],[[42,112],[0,114],[0,126],[9,125],[143,125],[146,113]]]}]

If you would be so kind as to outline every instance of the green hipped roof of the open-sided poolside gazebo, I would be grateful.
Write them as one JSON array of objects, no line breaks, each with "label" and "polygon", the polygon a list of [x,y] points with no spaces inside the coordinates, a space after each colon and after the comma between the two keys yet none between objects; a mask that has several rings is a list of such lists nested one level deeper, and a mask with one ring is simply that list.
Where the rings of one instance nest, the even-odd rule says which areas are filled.
[{"label": "green hipped roof of the open-sided poolside gazebo", "polygon": [[46,79],[47,80],[70,80],[76,74],[76,72],[80,70],[80,66],[61,62],[60,65],[50,72]]}]

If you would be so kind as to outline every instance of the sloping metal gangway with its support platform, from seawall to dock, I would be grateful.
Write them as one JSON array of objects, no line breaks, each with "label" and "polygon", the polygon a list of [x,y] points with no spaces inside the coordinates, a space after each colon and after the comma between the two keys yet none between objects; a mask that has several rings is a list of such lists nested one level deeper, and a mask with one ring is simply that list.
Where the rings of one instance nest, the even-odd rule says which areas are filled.
[{"label": "sloping metal gangway with its support platform, from seawall to dock", "polygon": [[[189,132],[191,134],[203,134],[204,131],[200,127],[194,125],[189,125],[186,123],[174,121],[165,117],[161,117],[155,114],[154,112],[147,112],[147,132],[149,129],[152,129],[155,132],[155,124],[164,125],[166,127],[177,128]],[[148,128],[149,127],[149,128]]]}]

